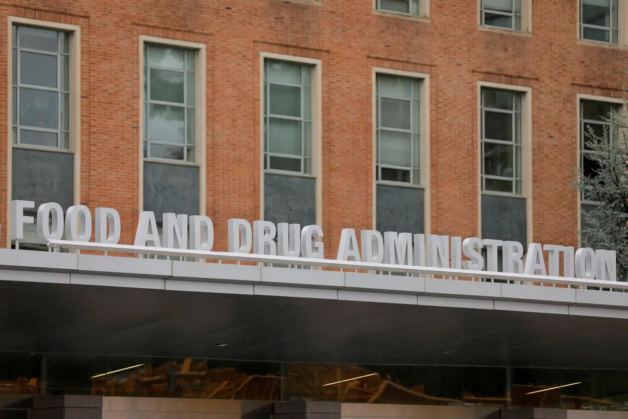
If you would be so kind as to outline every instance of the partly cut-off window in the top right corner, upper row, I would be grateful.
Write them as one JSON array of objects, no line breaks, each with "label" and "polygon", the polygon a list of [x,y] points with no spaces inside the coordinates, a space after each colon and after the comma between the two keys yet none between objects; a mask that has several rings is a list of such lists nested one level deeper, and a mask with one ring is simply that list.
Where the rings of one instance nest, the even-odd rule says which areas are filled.
[{"label": "partly cut-off window in the top right corner, upper row", "polygon": [[580,0],[580,38],[617,43],[618,0]]}]

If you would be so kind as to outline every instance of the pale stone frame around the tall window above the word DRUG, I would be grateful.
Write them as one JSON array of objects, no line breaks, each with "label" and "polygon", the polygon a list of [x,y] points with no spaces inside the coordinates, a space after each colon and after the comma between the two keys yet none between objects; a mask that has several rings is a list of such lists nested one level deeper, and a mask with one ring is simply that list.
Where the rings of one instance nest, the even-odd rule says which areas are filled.
[{"label": "pale stone frame around the tall window above the word DRUG", "polygon": [[[297,64],[311,65],[311,173],[299,173],[296,171],[264,169],[264,101],[266,92],[264,91],[264,68],[266,60],[276,60],[293,62]],[[322,207],[322,96],[323,96],[323,63],[317,58],[299,57],[296,55],[286,55],[271,52],[259,52],[259,215],[264,219],[264,174],[271,173],[284,176],[314,178],[316,194],[316,222],[320,226],[323,220]]]}]

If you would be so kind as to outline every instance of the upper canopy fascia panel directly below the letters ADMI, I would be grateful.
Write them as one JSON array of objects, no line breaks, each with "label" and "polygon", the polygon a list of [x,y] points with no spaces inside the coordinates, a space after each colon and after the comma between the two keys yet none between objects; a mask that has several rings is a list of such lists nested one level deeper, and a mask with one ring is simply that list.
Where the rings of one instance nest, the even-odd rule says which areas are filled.
[{"label": "upper canopy fascia panel directly below the letters ADMI", "polygon": [[345,272],[344,290],[419,295],[425,292],[425,278]]}]

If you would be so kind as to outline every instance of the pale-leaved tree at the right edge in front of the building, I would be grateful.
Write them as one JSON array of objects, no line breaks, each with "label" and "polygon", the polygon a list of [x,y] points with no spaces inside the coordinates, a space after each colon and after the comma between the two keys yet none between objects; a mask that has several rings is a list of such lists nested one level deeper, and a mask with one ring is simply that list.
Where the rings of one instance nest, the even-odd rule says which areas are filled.
[{"label": "pale-leaved tree at the right edge in front of the building", "polygon": [[[624,98],[626,98],[624,91]],[[624,99],[628,109],[628,101]],[[582,197],[583,247],[617,252],[617,280],[628,280],[628,116],[610,110],[584,123],[576,188]],[[603,129],[600,129],[603,128]]]}]

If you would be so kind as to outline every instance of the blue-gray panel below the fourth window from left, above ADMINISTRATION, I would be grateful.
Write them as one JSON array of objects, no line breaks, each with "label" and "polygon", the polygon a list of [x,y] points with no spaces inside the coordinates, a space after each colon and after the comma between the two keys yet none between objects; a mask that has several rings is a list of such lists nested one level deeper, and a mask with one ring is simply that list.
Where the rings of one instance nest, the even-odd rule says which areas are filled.
[{"label": "blue-gray panel below the fourth window from left, above ADMINISTRATION", "polygon": [[377,231],[425,232],[424,192],[420,188],[377,185]]}]

